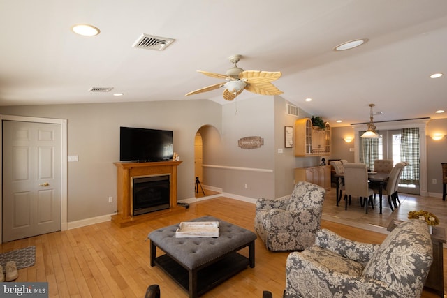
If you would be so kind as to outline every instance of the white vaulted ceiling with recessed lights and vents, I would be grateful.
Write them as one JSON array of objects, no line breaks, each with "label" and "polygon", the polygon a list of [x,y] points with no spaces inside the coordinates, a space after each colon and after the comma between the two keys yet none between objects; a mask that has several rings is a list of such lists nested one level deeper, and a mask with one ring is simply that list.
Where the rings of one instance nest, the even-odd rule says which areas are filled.
[{"label": "white vaulted ceiling with recessed lights and vents", "polygon": [[[101,33],[78,36],[77,23]],[[374,121],[447,117],[434,113],[447,111],[446,0],[0,0],[0,28],[0,105],[225,104],[219,89],[184,94],[219,82],[196,70],[225,73],[242,54],[237,66],[281,71],[281,96],[332,126],[368,121],[369,103]],[[175,42],[133,48],[142,33]],[[332,50],[357,38],[369,42]]]}]

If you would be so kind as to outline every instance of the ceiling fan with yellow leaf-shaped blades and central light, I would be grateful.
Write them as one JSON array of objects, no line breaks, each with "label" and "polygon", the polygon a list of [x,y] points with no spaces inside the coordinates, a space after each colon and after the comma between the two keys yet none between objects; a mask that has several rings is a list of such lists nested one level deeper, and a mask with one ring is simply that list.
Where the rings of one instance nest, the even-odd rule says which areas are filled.
[{"label": "ceiling fan with yellow leaf-shaped blades and central light", "polygon": [[225,87],[223,91],[223,98],[226,100],[233,100],[242,91],[247,90],[261,95],[277,95],[283,92],[271,83],[274,80],[278,80],[281,77],[280,71],[259,71],[259,70],[243,70],[237,67],[237,62],[242,58],[241,55],[233,55],[229,57],[231,63],[234,66],[226,71],[226,75],[220,75],[219,73],[209,73],[203,70],[197,70],[199,73],[203,73],[209,77],[217,77],[218,79],[224,79],[227,82],[217,83],[211,86],[203,87],[201,89],[191,91],[186,96],[192,94],[198,94],[202,92],[211,91]]}]

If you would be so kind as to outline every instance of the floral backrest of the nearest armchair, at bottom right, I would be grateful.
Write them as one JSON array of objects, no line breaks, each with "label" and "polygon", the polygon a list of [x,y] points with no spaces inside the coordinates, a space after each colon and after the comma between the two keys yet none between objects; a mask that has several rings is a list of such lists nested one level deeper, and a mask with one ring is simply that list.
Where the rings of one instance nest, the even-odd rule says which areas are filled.
[{"label": "floral backrest of the nearest armchair, at bottom right", "polygon": [[[388,235],[367,262],[362,277],[383,281],[406,297],[419,288],[432,263],[432,240],[425,221],[404,221]],[[422,286],[420,286],[422,288]]]}]

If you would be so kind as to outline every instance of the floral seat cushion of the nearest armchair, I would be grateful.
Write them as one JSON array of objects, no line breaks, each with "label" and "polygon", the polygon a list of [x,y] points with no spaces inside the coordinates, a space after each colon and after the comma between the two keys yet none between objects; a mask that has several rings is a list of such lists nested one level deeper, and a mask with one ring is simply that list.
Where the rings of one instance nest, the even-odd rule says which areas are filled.
[{"label": "floral seat cushion of the nearest armchair", "polygon": [[359,262],[342,257],[338,253],[328,251],[318,245],[313,245],[302,251],[302,257],[312,260],[331,271],[347,274],[349,276],[360,276],[364,266]]}]

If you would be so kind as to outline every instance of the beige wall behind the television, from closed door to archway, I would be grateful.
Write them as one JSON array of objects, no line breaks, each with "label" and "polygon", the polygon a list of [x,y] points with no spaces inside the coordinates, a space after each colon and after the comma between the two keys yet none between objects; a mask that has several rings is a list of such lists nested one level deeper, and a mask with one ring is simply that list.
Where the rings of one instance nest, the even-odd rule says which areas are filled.
[{"label": "beige wall behind the television, from closed door to archway", "polygon": [[119,126],[173,131],[174,151],[183,161],[178,200],[194,197],[196,132],[203,125],[221,129],[221,105],[210,100],[0,107],[0,114],[68,120],[68,155],[79,156],[68,163],[68,222],[116,210]]}]

